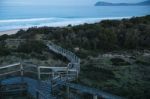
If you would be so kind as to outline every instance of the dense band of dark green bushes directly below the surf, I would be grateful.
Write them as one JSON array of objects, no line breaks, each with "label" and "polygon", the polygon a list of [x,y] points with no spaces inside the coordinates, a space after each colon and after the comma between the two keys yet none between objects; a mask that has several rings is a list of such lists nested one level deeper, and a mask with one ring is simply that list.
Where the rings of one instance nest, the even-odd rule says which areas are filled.
[{"label": "dense band of dark green bushes directly below the surf", "polygon": [[123,20],[104,20],[95,24],[79,26],[33,27],[20,30],[16,36],[33,39],[37,34],[45,34],[45,39],[63,46],[80,47],[86,50],[112,51],[120,49],[150,48],[150,16]]}]

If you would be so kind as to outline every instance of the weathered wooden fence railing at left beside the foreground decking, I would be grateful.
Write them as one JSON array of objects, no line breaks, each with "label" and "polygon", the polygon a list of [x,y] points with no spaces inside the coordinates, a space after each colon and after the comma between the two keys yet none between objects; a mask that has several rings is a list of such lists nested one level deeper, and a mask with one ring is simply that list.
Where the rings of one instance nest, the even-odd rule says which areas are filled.
[{"label": "weathered wooden fence railing at left beside the foreground decking", "polygon": [[25,72],[33,73],[37,75],[37,79],[42,80],[41,75],[51,75],[54,77],[58,74],[67,75],[67,67],[48,67],[48,66],[36,66],[27,63],[15,63],[7,66],[0,67],[0,77],[12,75],[18,73],[18,76],[25,76]]}]

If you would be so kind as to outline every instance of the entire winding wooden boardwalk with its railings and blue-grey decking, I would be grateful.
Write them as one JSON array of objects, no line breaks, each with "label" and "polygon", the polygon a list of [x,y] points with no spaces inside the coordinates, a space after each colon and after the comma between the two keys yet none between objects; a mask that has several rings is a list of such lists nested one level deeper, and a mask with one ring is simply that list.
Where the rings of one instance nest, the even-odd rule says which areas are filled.
[{"label": "entire winding wooden boardwalk with its railings and blue-grey decking", "polygon": [[[68,65],[66,67],[48,67],[37,66],[26,62],[19,62],[7,66],[1,66],[0,78],[12,75],[14,73],[18,73],[18,76],[20,76],[14,76],[7,79],[5,78],[1,81],[1,83],[26,83],[28,85],[27,91],[37,99],[56,99],[56,97],[53,96],[52,93],[53,89],[59,86],[65,86],[67,88],[72,88],[83,93],[89,93],[93,95],[94,99],[97,99],[98,97],[103,97],[105,99],[123,99],[122,97],[99,91],[94,88],[70,83],[70,81],[77,79],[79,75],[80,59],[74,53],[65,50],[51,42],[48,42],[47,46],[51,51],[66,57],[70,61]],[[42,69],[49,71],[43,71]],[[36,79],[26,76],[25,72],[35,74]],[[47,80],[43,80],[42,75],[48,75],[50,77],[47,78]]]}]

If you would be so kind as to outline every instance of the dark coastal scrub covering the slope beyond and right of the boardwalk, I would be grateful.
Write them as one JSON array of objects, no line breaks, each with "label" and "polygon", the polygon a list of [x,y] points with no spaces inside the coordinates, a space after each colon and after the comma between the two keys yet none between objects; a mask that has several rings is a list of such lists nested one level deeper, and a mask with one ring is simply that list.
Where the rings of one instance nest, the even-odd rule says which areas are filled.
[{"label": "dark coastal scrub covering the slope beyond and right of the boardwalk", "polygon": [[[8,39],[25,42],[13,49],[6,46]],[[150,15],[78,26],[20,30],[14,35],[0,37],[0,56],[14,53],[30,55],[30,58],[46,56],[45,40],[71,50],[81,58],[77,83],[129,99],[150,97]]]}]

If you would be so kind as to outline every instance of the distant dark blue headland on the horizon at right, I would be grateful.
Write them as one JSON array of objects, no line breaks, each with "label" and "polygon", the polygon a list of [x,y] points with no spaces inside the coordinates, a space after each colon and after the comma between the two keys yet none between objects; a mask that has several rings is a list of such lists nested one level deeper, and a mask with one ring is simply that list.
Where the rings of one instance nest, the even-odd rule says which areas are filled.
[{"label": "distant dark blue headland on the horizon at right", "polygon": [[150,0],[139,2],[139,3],[110,3],[110,2],[97,2],[95,6],[144,6],[150,5]]}]

